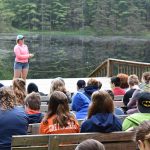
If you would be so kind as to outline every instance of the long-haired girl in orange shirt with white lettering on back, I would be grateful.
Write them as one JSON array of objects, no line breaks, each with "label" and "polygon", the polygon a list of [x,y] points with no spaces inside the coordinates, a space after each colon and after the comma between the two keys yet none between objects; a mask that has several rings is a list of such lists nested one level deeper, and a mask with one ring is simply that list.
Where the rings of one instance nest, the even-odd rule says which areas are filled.
[{"label": "long-haired girl in orange shirt with white lettering on back", "polygon": [[54,91],[48,103],[48,112],[40,124],[40,134],[78,133],[79,124],[69,111],[68,98]]}]

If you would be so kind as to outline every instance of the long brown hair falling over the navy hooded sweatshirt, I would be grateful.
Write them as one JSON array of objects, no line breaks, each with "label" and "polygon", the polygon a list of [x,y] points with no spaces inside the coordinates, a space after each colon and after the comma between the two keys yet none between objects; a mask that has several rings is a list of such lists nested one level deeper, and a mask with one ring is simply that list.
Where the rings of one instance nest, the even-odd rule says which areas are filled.
[{"label": "long brown hair falling over the navy hooded sweatshirt", "polygon": [[97,113],[113,113],[114,104],[106,91],[96,91],[92,94],[92,103],[88,111],[88,119]]}]

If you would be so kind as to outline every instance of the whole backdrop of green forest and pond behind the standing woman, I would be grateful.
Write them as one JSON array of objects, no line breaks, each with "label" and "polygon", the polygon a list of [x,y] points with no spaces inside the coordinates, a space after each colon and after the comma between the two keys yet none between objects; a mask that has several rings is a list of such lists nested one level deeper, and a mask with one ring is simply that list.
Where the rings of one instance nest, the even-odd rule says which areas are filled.
[{"label": "whole backdrop of green forest and pond behind the standing woman", "polygon": [[28,78],[86,77],[107,58],[150,62],[150,0],[0,0],[0,78],[12,79],[17,34]]}]

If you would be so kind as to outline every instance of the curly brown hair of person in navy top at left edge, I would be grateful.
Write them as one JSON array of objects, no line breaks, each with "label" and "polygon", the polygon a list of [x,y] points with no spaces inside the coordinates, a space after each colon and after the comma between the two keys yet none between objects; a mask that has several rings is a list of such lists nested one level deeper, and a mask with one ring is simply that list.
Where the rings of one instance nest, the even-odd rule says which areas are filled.
[{"label": "curly brown hair of person in navy top at left edge", "polygon": [[15,106],[15,95],[10,87],[0,88],[0,107],[2,110],[13,109]]}]

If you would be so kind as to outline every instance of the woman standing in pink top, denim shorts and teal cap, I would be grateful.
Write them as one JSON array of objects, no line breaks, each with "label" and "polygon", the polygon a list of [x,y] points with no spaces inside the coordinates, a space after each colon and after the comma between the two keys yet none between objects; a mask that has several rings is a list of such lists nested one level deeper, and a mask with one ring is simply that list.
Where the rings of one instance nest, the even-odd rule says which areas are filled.
[{"label": "woman standing in pink top, denim shorts and teal cap", "polygon": [[16,45],[14,47],[15,62],[14,62],[14,78],[23,78],[26,80],[29,62],[28,59],[34,55],[30,54],[27,45],[24,44],[24,36],[18,35],[16,38]]}]

